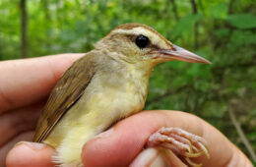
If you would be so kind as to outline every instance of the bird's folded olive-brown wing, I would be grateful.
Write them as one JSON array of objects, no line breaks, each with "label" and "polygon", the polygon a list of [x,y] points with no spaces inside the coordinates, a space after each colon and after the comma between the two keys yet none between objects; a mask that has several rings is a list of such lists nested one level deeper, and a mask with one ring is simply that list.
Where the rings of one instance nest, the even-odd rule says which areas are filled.
[{"label": "bird's folded olive-brown wing", "polygon": [[66,71],[50,93],[37,123],[33,141],[46,139],[56,123],[84,93],[94,74],[95,65],[90,54],[76,61]]}]

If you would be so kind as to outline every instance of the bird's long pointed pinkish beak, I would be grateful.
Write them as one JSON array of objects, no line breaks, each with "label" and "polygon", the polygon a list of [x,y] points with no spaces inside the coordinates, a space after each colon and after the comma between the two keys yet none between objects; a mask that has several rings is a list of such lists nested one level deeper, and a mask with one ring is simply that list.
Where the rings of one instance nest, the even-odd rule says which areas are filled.
[{"label": "bird's long pointed pinkish beak", "polygon": [[180,60],[192,63],[212,64],[210,61],[173,44],[172,49],[159,50],[160,57],[166,60]]}]

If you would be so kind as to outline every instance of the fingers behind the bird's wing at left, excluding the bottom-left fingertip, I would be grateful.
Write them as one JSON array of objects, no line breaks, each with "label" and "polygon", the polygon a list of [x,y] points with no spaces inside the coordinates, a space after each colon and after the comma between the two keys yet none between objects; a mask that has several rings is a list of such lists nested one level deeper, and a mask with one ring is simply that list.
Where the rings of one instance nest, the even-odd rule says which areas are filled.
[{"label": "fingers behind the bird's wing at left, excluding the bottom-left fingertip", "polygon": [[83,55],[61,54],[0,62],[0,166],[5,166],[6,154],[16,142],[32,140],[50,90]]}]

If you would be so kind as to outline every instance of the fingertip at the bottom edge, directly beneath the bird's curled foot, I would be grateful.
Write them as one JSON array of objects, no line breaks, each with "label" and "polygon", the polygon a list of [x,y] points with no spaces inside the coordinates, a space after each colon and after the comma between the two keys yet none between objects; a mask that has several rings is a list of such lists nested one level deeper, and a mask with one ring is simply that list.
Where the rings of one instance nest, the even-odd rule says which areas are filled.
[{"label": "fingertip at the bottom edge, directly beneath the bird's curled foot", "polygon": [[186,165],[170,150],[160,147],[147,148],[143,150],[130,164],[129,167],[186,167]]}]

